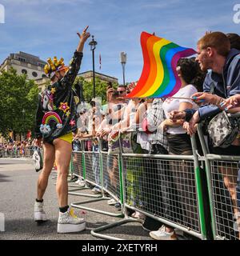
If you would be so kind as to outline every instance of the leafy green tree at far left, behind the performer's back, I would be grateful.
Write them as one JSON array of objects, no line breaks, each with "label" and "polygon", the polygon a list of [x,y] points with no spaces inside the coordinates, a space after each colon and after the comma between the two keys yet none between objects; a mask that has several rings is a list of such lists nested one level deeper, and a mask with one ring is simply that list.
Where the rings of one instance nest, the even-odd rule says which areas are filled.
[{"label": "leafy green tree at far left, behind the performer's back", "polygon": [[11,68],[0,75],[0,133],[26,133],[34,130],[34,116],[38,102],[38,86],[25,74],[18,75]]}]

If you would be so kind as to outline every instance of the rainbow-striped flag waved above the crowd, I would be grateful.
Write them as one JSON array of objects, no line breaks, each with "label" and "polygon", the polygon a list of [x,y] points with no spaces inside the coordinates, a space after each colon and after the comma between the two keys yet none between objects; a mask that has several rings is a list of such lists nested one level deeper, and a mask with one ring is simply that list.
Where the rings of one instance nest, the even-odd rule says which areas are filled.
[{"label": "rainbow-striped flag waved above the crowd", "polygon": [[178,92],[181,81],[176,71],[179,58],[196,54],[165,38],[142,32],[143,69],[137,86],[126,98],[166,98]]}]

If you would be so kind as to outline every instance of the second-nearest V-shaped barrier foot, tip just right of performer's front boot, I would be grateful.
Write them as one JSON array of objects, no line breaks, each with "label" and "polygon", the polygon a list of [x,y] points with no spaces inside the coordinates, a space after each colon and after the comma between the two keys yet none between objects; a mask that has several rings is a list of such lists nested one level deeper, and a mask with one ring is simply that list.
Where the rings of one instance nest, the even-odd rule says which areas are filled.
[{"label": "second-nearest V-shaped barrier foot, tip just right of performer's front boot", "polygon": [[78,208],[78,209],[82,209],[82,210],[89,210],[89,211],[92,211],[92,212],[97,213],[97,214],[104,214],[104,215],[108,215],[108,216],[111,216],[111,217],[116,217],[116,218],[123,218],[124,217],[124,214],[122,213],[122,211],[121,211],[120,214],[114,214],[114,213],[110,213],[108,211],[97,210],[97,209],[94,209],[94,208],[82,206],[83,204],[86,204],[86,203],[99,202],[99,201],[102,201],[102,200],[110,200],[110,198],[102,197],[102,198],[95,198],[95,199],[85,200],[85,201],[81,201],[81,202],[72,202],[71,206],[74,207],[74,208]]}]

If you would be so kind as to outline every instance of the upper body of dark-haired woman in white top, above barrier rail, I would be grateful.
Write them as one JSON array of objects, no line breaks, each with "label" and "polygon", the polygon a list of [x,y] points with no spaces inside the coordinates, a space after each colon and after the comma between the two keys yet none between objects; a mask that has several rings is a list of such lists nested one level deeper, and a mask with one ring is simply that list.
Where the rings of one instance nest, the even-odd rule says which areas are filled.
[{"label": "upper body of dark-haired woman in white top, above barrier rail", "polygon": [[183,98],[191,98],[191,95],[198,91],[198,83],[200,82],[200,85],[203,83],[205,74],[199,69],[198,62],[196,62],[194,58],[180,58],[177,72],[182,86],[180,90],[174,94],[174,98],[167,98],[162,104],[167,119],[162,122],[160,127],[162,130],[166,130],[169,154],[192,154],[190,136],[187,135],[186,130],[182,128],[184,121],[178,120],[177,122],[172,122],[169,116],[172,110],[183,111],[198,108],[198,105],[192,100]]}]

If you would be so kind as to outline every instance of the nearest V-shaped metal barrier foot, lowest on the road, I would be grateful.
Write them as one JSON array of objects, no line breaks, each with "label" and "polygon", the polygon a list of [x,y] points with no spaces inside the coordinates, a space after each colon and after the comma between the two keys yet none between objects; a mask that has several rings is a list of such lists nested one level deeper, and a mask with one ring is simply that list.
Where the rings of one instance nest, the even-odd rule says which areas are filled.
[{"label": "nearest V-shaped metal barrier foot, lowest on the road", "polygon": [[106,239],[106,240],[124,240],[122,238],[116,238],[116,237],[112,237],[110,235],[106,235],[106,234],[99,234],[98,232],[101,232],[103,230],[110,230],[116,226],[122,226],[123,224],[129,223],[129,222],[139,222],[142,223],[141,220],[138,219],[134,219],[134,218],[125,218],[122,219],[119,222],[114,222],[111,224],[107,224],[105,226],[100,226],[94,230],[91,230],[91,235],[93,235],[96,238],[102,238],[102,239]]}]

